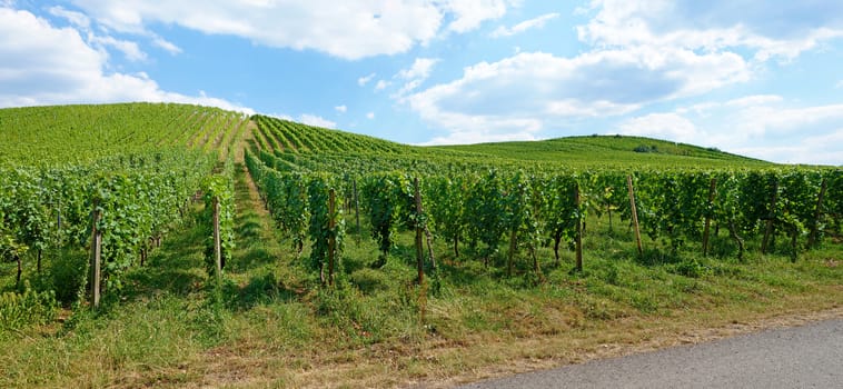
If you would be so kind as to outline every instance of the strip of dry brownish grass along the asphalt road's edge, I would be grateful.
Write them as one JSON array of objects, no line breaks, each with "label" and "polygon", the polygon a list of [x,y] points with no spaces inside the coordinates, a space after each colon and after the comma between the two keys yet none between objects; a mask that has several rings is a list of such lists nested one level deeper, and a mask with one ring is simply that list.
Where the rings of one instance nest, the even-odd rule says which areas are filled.
[{"label": "strip of dry brownish grass along the asphalt road's edge", "polygon": [[190,387],[449,388],[460,383],[603,358],[700,343],[776,327],[843,318],[843,288],[785,298],[774,306],[681,310],[666,317],[586,322],[552,336],[429,337],[414,345],[274,353],[237,341],[205,353]]}]

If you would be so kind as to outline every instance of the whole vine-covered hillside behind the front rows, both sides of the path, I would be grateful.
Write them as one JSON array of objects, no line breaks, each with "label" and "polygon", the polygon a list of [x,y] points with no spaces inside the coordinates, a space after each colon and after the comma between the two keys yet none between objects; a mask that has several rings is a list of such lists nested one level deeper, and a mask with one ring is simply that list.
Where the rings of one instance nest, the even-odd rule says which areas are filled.
[{"label": "whole vine-covered hillside behind the front rows, both sides of the path", "polygon": [[[150,148],[186,147],[227,154],[246,123],[241,114],[172,103],[120,103],[0,109],[0,160],[68,162]],[[380,154],[422,160],[518,161],[564,167],[762,167],[768,162],[663,140],[589,136],[542,141],[417,147],[255,116],[252,150]],[[260,126],[262,124],[262,126]],[[52,142],[61,139],[60,142]],[[235,143],[232,143],[235,142]]]}]

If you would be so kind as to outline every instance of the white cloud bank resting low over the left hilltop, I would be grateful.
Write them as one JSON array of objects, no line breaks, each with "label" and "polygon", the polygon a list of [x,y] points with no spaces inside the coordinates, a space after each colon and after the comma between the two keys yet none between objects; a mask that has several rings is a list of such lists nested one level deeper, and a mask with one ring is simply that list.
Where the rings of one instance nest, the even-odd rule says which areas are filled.
[{"label": "white cloud bank resting low over the left hilltop", "polygon": [[54,28],[28,11],[0,8],[0,107],[170,101],[215,106],[252,113],[248,108],[206,96],[165,91],[146,73],[106,72],[108,54],[73,28]]}]

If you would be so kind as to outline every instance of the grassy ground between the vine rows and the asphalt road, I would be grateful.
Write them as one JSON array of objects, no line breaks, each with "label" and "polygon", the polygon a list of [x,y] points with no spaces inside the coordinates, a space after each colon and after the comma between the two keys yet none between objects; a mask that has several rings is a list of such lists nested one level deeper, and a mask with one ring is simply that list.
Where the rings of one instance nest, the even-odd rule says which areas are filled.
[{"label": "grassy ground between the vine rows and the asphalt road", "polygon": [[[645,240],[637,258],[627,231],[609,233],[595,219],[583,272],[571,271],[571,252],[555,268],[542,248],[544,281],[526,252],[507,277],[504,253],[486,269],[437,240],[438,278],[419,287],[410,233],[381,269],[370,268],[375,242],[350,235],[338,286],[326,290],[303,265],[309,249],[297,258],[244,173],[237,205],[221,299],[202,270],[201,226],[187,220],[131,271],[120,299],[2,333],[0,387],[450,386],[701,341],[782,316],[843,316],[841,245],[832,240],[796,263],[756,250],[740,262],[725,255],[725,237],[714,239],[720,257],[693,246],[667,256]],[[0,285],[9,285],[7,267]]]}]

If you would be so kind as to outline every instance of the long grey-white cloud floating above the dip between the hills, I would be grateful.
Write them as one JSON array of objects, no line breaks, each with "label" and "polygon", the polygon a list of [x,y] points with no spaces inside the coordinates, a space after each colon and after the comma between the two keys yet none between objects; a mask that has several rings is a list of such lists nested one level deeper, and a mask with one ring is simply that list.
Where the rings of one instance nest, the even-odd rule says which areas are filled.
[{"label": "long grey-white cloud floating above the dip between the hills", "polygon": [[524,52],[465,68],[460,79],[404,101],[454,132],[508,126],[512,132],[535,133],[547,123],[628,113],[747,77],[743,59],[728,53],[636,48],[568,59]]}]

